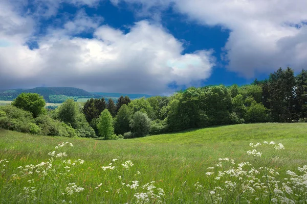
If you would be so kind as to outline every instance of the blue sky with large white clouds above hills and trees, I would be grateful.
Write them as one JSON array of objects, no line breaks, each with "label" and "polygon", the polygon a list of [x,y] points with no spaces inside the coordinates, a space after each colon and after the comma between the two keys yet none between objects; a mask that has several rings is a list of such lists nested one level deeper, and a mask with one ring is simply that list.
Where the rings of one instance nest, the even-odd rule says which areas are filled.
[{"label": "blue sky with large white clouds above hills and trees", "polygon": [[305,0],[0,0],[0,89],[168,95],[307,68]]}]

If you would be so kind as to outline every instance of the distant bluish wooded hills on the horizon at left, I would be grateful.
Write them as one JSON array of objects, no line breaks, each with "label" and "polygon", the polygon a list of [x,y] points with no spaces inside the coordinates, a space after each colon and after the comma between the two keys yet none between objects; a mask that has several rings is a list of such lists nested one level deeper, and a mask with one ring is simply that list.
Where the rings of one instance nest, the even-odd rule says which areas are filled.
[{"label": "distant bluish wooded hills on the horizon at left", "polygon": [[150,97],[147,94],[124,94],[124,93],[105,93],[88,92],[74,87],[36,87],[32,89],[5,89],[0,90],[0,100],[13,100],[20,93],[38,93],[49,103],[62,103],[68,98],[78,100],[78,98],[119,98],[121,95],[129,96],[131,99],[140,97]]}]

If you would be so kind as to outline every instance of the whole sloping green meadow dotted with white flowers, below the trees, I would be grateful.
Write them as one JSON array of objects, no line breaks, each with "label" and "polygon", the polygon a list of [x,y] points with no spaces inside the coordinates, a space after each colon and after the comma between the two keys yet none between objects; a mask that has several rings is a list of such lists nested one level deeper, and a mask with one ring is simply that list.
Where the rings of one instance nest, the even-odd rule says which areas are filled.
[{"label": "whole sloping green meadow dotted with white flowers, below the trees", "polygon": [[[241,162],[250,162],[255,168],[260,164],[269,166],[280,172],[280,175],[273,173],[274,181],[282,182],[284,177],[289,177],[287,170],[298,172],[299,166],[307,165],[306,130],[307,123],[240,124],[105,141],[35,136],[0,129],[0,161],[4,160],[0,165],[8,161],[6,166],[0,167],[0,203],[212,203],[219,197],[223,199],[217,203],[269,203],[276,201],[273,200],[276,196],[279,199],[277,203],[280,203],[281,199],[286,198],[281,194],[278,198],[278,192],[271,192],[274,182],[268,174],[264,177],[264,186],[267,187],[260,190],[253,187],[256,189],[254,193],[242,190],[241,186],[248,183],[242,181],[250,179],[247,175],[225,175],[224,180],[212,176],[229,169],[233,159],[235,168]],[[264,141],[282,143],[285,149],[275,150],[272,145],[265,146]],[[55,146],[61,142],[74,146],[64,143],[65,146],[56,149]],[[258,148],[249,146],[251,142],[262,143],[262,157],[247,154],[248,150]],[[52,151],[56,151],[55,155],[64,151],[68,157],[48,155]],[[48,169],[50,158],[54,158],[54,161]],[[219,161],[220,158],[230,160]],[[80,164],[78,159],[84,160],[84,163]],[[121,164],[128,160],[134,165],[125,169]],[[41,162],[45,164],[30,165]],[[219,162],[223,162],[223,167],[222,164],[215,165]],[[43,170],[46,172],[42,174]],[[236,173],[242,171],[235,170]],[[243,180],[239,177],[243,177]],[[236,185],[225,186],[226,180]],[[141,188],[152,181],[155,183]],[[281,186],[281,183],[276,185]],[[214,188],[217,186],[224,187],[224,190]],[[163,189],[164,193],[158,188]],[[268,190],[271,190],[270,195],[265,197],[264,191]],[[305,194],[298,191],[289,196],[298,201],[306,199]]]}]

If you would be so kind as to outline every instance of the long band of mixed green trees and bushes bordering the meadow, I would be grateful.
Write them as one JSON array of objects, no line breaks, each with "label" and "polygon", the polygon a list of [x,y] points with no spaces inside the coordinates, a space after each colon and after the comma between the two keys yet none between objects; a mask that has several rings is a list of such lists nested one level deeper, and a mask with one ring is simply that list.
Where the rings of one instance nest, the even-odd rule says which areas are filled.
[{"label": "long band of mixed green trees and bushes bordering the meadow", "polygon": [[171,96],[130,100],[67,99],[46,111],[45,100],[22,93],[0,107],[0,127],[20,132],[105,139],[143,137],[195,127],[255,122],[307,122],[307,71],[278,69],[244,86],[190,87]]}]

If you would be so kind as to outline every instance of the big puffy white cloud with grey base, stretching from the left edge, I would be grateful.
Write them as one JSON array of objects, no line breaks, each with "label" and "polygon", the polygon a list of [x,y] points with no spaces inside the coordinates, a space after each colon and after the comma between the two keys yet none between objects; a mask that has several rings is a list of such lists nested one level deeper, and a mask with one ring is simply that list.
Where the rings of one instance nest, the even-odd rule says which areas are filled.
[{"label": "big puffy white cloud with grey base, stretching from the left edge", "polygon": [[[37,38],[38,48],[30,49],[25,43],[35,28],[33,18],[10,11],[0,15],[0,23],[5,25],[0,27],[2,88],[46,84],[90,91],[167,94],[173,91],[168,84],[189,86],[207,79],[214,66],[212,50],[182,55],[182,43],[159,24],[143,20],[123,33],[100,26],[101,18],[90,18],[82,11],[62,28],[50,28]],[[27,29],[10,33],[21,24]],[[89,30],[94,32],[93,38],[74,35]]]}]

